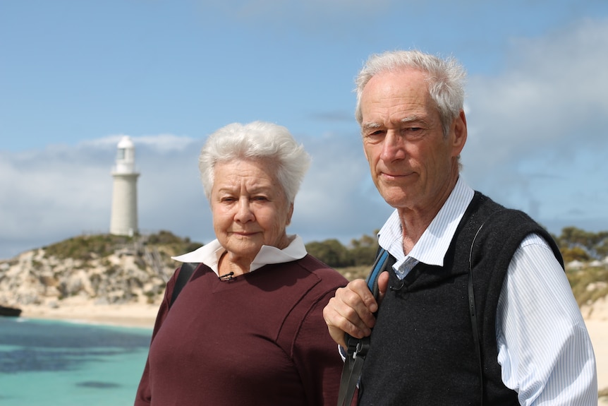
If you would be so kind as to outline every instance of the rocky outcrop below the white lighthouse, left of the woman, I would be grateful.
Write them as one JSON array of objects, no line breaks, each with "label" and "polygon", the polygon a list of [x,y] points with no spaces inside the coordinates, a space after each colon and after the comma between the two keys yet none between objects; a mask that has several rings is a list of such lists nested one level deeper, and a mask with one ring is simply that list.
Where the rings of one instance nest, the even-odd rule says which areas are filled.
[{"label": "rocky outcrop below the white lighthouse, left of the woman", "polygon": [[[73,240],[71,248],[78,245]],[[147,244],[149,240],[134,237],[85,253],[72,249],[77,252],[75,258],[52,246],[0,261],[0,304],[52,307],[75,297],[94,304],[157,304],[162,300],[166,280],[178,266],[170,256],[185,252],[193,244],[188,239],[181,241],[188,247]]]}]

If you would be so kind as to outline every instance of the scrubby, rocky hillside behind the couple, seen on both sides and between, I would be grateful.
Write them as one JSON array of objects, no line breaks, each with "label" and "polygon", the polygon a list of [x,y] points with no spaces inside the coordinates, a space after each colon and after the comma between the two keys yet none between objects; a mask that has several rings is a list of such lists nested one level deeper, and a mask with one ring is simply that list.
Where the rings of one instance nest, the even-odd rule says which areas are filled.
[{"label": "scrubby, rocky hillside behind the couple, seen on both sides and between", "polygon": [[[376,232],[374,233],[374,235]],[[574,227],[554,236],[579,305],[608,295],[608,232]],[[82,235],[0,261],[0,304],[59,306],[80,299],[99,304],[158,303],[178,263],[171,256],[202,246],[171,232],[135,237]],[[378,249],[363,235],[344,246],[337,239],[312,241],[308,252],[336,268],[348,280],[367,276]]]}]

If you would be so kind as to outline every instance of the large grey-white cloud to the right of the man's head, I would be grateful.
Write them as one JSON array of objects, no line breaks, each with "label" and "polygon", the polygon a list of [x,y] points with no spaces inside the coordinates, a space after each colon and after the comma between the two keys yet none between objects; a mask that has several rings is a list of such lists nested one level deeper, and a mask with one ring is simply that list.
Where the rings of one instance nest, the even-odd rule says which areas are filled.
[{"label": "large grey-white cloud to the right of the man's head", "polygon": [[463,163],[473,186],[547,227],[602,217],[596,227],[607,226],[605,49],[608,20],[582,20],[513,40],[503,73],[470,78]]}]

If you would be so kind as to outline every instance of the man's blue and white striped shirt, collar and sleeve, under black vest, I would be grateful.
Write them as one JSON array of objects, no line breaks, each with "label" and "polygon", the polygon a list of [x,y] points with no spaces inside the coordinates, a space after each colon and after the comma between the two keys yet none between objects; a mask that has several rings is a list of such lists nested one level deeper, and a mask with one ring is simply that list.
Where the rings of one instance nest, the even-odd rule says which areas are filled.
[{"label": "man's blue and white striped shirt, collar and sleeve, under black vest", "polygon": [[[460,177],[420,239],[403,252],[395,210],[379,231],[379,244],[396,258],[403,279],[418,263],[443,265],[446,251],[473,199]],[[511,259],[497,306],[498,363],[521,405],[597,405],[597,371],[591,340],[568,278],[547,242],[525,237]]]}]

